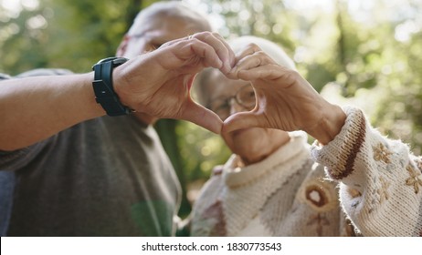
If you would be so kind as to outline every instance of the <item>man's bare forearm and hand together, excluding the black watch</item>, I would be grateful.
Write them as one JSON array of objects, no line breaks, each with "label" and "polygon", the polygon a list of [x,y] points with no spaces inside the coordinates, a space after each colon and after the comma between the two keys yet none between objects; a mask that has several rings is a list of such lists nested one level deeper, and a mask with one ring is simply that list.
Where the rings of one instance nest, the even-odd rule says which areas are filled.
[{"label": "man's bare forearm and hand together, excluding the black watch", "polygon": [[[224,39],[203,32],[164,44],[113,69],[114,91],[124,106],[153,117],[185,119],[219,133],[215,113],[190,96],[195,74],[211,66],[227,73],[234,54]],[[0,83],[0,149],[25,148],[81,121],[100,117],[93,73],[38,76]]]}]

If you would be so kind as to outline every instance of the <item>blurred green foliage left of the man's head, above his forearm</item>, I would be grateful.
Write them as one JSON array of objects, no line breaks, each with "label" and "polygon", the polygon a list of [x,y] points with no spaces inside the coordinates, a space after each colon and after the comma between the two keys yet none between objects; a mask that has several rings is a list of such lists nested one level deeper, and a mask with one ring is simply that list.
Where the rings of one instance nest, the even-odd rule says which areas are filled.
[{"label": "blurred green foliage left of the man's head, above his forearm", "polygon": [[113,56],[121,36],[142,8],[141,0],[21,1],[18,15],[0,5],[0,71],[17,74],[37,67],[90,70]]}]

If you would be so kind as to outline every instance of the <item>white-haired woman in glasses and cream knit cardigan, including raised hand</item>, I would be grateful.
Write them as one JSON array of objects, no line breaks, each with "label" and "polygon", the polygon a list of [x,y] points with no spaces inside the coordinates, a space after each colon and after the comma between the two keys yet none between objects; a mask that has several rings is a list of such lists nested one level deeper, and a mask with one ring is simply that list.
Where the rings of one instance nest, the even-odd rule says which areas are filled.
[{"label": "white-haired woman in glasses and cream knit cardigan, including raised hand", "polygon": [[[196,199],[192,236],[421,233],[420,158],[359,109],[323,100],[280,46],[253,36],[230,45],[232,76],[206,69],[195,80],[199,102],[225,121],[233,155]],[[306,133],[283,131],[298,129],[318,140],[311,147]]]}]

